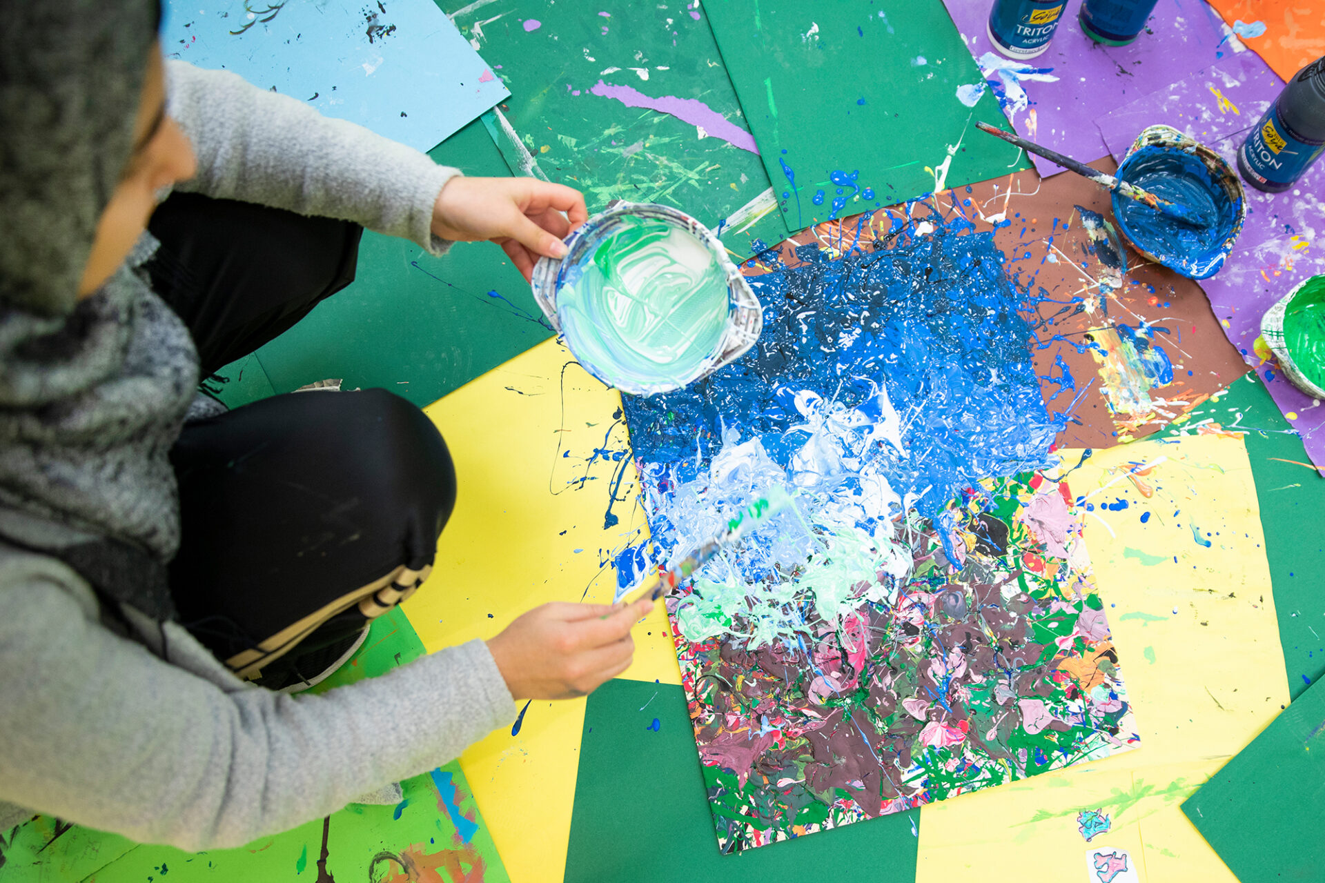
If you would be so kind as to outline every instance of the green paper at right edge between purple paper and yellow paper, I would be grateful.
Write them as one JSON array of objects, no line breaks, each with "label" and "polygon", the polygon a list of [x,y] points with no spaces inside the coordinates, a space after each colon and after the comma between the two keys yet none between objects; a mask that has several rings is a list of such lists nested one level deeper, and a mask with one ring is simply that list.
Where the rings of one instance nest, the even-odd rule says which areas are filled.
[{"label": "green paper at right edge between purple paper and yellow paper", "polygon": [[1166,432],[1198,432],[1206,421],[1246,432],[1288,690],[1297,698],[1325,675],[1325,478],[1309,465],[1301,438],[1255,373],[1234,381]]}]

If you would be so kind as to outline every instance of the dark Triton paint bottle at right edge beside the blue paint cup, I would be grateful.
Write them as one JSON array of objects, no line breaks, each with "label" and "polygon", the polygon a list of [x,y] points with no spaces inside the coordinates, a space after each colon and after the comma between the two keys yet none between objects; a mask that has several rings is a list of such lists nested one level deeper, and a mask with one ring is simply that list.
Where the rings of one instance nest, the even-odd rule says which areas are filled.
[{"label": "dark Triton paint bottle at right edge beside the blue paint cup", "polygon": [[1325,58],[1288,81],[1238,150],[1238,171],[1260,191],[1279,193],[1325,152]]}]

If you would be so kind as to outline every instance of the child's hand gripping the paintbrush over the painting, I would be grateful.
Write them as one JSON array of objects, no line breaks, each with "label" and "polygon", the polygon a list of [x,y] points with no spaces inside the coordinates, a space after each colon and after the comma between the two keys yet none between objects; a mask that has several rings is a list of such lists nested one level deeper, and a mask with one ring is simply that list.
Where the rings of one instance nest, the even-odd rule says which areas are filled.
[{"label": "child's hand gripping the paintbrush over the painting", "polygon": [[648,600],[623,608],[554,601],[518,617],[488,650],[514,699],[583,696],[631,665],[631,626],[652,609]]}]

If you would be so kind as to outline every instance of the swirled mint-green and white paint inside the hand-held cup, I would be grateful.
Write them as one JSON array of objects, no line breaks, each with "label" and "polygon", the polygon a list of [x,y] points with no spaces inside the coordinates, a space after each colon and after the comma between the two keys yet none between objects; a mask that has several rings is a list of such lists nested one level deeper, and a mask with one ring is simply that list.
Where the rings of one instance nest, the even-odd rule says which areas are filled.
[{"label": "swirled mint-green and white paint inside the hand-held cup", "polygon": [[600,376],[680,385],[713,360],[727,323],[726,275],[708,246],[653,218],[625,217],[562,267],[558,314]]}]

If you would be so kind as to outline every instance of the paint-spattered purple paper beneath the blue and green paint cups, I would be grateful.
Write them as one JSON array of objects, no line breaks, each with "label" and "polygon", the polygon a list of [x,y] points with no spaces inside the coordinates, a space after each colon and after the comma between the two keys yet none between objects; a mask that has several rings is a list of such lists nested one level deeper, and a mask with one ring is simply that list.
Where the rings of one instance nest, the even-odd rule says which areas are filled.
[{"label": "paint-spattered purple paper beneath the blue and green paint cups", "polygon": [[[1260,56],[1239,53],[1101,116],[1098,131],[1120,160],[1141,128],[1166,123],[1234,163],[1247,132],[1283,87]],[[1238,244],[1200,287],[1224,334],[1301,434],[1312,462],[1325,467],[1325,408],[1288,383],[1255,346],[1261,315],[1298,282],[1325,273],[1325,163],[1283,193],[1246,191],[1247,221]]]}]

